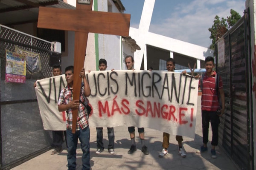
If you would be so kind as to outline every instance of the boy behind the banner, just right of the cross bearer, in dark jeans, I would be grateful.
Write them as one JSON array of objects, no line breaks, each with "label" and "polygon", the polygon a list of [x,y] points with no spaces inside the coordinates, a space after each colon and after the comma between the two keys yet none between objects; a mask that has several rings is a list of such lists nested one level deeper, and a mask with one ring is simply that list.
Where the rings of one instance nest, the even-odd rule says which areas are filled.
[{"label": "boy behind the banner, just right of the cross bearer, in dark jeans", "polygon": [[[107,69],[107,61],[105,59],[99,59],[99,70],[105,71]],[[114,128],[113,127],[107,127],[108,129],[108,152],[113,155],[115,154],[114,151],[114,141],[115,141],[115,134],[114,134]],[[104,144],[102,142],[103,140],[103,133],[102,133],[103,127],[96,127],[97,131],[97,154],[100,154],[104,151]]]}]

